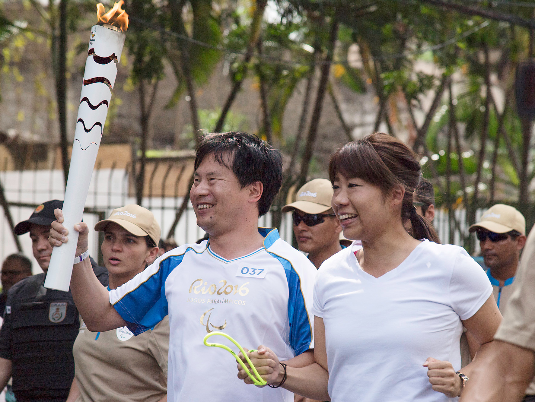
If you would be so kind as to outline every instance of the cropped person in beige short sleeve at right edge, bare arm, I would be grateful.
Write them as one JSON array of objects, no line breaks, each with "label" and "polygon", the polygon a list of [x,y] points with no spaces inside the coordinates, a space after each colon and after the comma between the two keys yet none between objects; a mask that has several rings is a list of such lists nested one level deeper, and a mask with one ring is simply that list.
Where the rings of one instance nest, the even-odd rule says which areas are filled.
[{"label": "cropped person in beige short sleeve at right edge, bare arm", "polygon": [[535,400],[533,395],[526,395],[533,389],[530,381],[535,374],[534,284],[535,230],[531,230],[503,321],[485,357],[473,370],[461,402]]}]

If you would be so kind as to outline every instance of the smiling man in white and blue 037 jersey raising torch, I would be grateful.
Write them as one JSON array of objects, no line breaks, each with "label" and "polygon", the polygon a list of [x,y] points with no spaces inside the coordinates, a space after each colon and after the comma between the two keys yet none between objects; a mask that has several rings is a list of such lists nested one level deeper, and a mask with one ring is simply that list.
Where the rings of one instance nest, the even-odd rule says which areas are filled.
[{"label": "smiling man in white and blue 037 jersey raising torch", "polygon": [[[203,345],[207,334],[219,330],[247,349],[276,345],[288,365],[313,361],[313,315],[307,309],[316,269],[277,229],[258,228],[258,217],[280,188],[282,157],[247,133],[205,134],[194,178],[189,198],[209,239],[163,254],[109,294],[83,260],[73,269],[74,300],[92,331],[127,325],[137,335],[169,314],[170,401],[292,401],[282,388],[247,386],[236,378],[230,354]],[[50,232],[55,246],[68,234],[59,211],[57,217]],[[87,250],[88,230],[82,223],[75,229],[78,256]],[[222,337],[213,342],[233,346]]]}]

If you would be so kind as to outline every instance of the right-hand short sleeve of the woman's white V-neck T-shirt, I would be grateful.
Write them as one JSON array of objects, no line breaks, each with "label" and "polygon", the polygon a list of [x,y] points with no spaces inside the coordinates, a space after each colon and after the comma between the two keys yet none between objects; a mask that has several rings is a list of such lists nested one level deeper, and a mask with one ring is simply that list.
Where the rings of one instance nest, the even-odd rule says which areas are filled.
[{"label": "right-hand short sleeve of the woman's white V-neck T-shirt", "polygon": [[453,310],[461,320],[467,320],[492,295],[492,285],[480,265],[464,249],[458,249],[449,282],[449,297]]}]

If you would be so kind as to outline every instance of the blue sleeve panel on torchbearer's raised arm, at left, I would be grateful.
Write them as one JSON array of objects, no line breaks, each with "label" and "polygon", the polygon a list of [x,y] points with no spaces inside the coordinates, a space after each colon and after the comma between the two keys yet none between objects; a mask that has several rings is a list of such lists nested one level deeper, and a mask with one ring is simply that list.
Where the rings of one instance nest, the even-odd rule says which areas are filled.
[{"label": "blue sleeve panel on torchbearer's raised arm, at left", "polygon": [[165,297],[165,281],[172,270],[181,264],[188,251],[200,254],[188,247],[182,254],[166,256],[159,261],[154,273],[113,304],[119,315],[129,323],[128,329],[134,335],[139,335],[154,327],[169,314],[169,305]]}]

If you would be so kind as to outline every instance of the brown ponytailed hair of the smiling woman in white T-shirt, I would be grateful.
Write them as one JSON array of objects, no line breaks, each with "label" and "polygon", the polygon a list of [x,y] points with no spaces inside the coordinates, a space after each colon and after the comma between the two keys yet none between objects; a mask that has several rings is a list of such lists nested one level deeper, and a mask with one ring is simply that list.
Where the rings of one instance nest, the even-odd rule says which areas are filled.
[{"label": "brown ponytailed hair of the smiling woman in white T-shirt", "polygon": [[422,172],[414,152],[400,140],[384,133],[374,133],[362,140],[347,143],[331,156],[331,182],[334,182],[337,174],[349,178],[358,177],[377,185],[383,195],[388,194],[395,185],[403,185],[405,195],[401,206],[401,221],[410,219],[413,237],[440,243],[433,226],[418,215],[412,205],[414,190],[418,187]]}]

